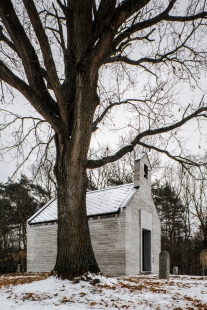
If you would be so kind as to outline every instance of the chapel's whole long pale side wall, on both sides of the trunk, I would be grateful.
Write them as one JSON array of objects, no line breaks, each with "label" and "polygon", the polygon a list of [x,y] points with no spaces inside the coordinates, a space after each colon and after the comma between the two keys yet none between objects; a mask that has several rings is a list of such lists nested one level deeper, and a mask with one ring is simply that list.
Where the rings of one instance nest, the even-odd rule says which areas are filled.
[{"label": "chapel's whole long pale side wall, on both sides of the trunk", "polygon": [[[27,225],[27,272],[50,272],[57,255],[58,225]],[[125,214],[89,221],[91,242],[100,270],[125,274]]]}]

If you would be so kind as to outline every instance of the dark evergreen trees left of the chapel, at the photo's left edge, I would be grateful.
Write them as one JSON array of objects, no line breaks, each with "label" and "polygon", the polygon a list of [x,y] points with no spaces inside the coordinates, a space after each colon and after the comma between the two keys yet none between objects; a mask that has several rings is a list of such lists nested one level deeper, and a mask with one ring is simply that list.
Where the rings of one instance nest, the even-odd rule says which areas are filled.
[{"label": "dark evergreen trees left of the chapel, at the photo's left edge", "polygon": [[50,198],[25,175],[17,182],[0,183],[0,273],[26,271],[26,221]]}]

